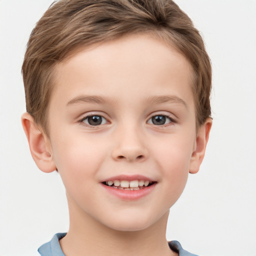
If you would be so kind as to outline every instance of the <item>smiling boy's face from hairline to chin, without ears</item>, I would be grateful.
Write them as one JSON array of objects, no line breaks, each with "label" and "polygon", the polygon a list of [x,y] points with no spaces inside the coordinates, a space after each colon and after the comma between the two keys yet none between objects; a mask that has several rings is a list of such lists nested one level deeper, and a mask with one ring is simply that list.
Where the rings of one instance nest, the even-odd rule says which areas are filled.
[{"label": "smiling boy's face from hairline to chin, without ears", "polygon": [[[56,66],[49,152],[71,216],[140,230],[166,215],[196,149],[191,76],[181,54],[147,35],[84,48]],[[133,191],[103,184],[114,179],[153,183]]]}]

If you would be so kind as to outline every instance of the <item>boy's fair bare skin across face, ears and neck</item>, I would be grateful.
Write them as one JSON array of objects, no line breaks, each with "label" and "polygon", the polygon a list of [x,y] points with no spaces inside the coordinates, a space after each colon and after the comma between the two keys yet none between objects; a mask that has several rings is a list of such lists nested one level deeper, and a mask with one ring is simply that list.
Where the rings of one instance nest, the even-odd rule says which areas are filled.
[{"label": "boy's fair bare skin across face, ears and neck", "polygon": [[[169,208],[198,171],[211,127],[208,118],[196,131],[189,62],[159,39],[127,35],[79,49],[55,68],[49,136],[27,113],[22,124],[37,166],[57,168],[66,188],[64,254],[175,255],[165,239]],[[88,115],[103,116],[102,124],[90,125]],[[164,124],[152,122],[157,115]],[[101,184],[120,174],[156,184],[142,198],[120,199]]]}]

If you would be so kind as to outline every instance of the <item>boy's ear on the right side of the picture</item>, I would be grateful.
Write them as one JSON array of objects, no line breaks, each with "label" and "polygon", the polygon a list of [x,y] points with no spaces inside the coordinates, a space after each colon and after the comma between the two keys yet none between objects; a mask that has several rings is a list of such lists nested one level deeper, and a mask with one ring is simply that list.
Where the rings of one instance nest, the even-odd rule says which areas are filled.
[{"label": "boy's ear on the right side of the picture", "polygon": [[199,170],[200,164],[204,157],[206,144],[209,138],[209,132],[212,124],[212,119],[207,118],[204,124],[202,124],[197,132],[196,140],[190,159],[189,172],[196,173]]}]

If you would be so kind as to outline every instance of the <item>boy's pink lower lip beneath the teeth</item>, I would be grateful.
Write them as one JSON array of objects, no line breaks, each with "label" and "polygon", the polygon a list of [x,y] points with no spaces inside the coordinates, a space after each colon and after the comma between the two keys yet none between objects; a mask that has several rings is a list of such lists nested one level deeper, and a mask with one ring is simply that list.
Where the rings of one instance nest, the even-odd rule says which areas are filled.
[{"label": "boy's pink lower lip beneath the teeth", "polygon": [[155,184],[156,183],[153,183],[150,186],[147,186],[138,190],[124,190],[124,189],[118,189],[111,186],[107,186],[101,183],[101,185],[107,192],[119,197],[120,199],[130,200],[130,201],[138,200],[146,196],[147,194],[149,194],[154,189]]}]

